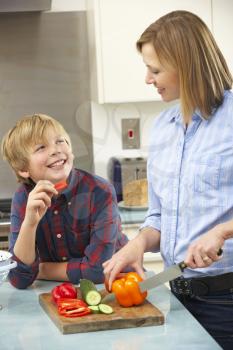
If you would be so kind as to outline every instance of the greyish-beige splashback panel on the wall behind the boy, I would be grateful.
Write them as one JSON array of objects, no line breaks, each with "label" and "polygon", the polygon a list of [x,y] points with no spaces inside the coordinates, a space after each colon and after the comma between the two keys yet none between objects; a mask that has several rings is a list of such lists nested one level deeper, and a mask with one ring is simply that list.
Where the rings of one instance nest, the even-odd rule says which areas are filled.
[{"label": "greyish-beige splashback panel on the wall behind the boy", "polygon": [[[45,113],[69,133],[75,166],[92,171],[85,13],[0,13],[0,43],[0,141],[23,115]],[[0,199],[16,187],[0,156]]]}]

